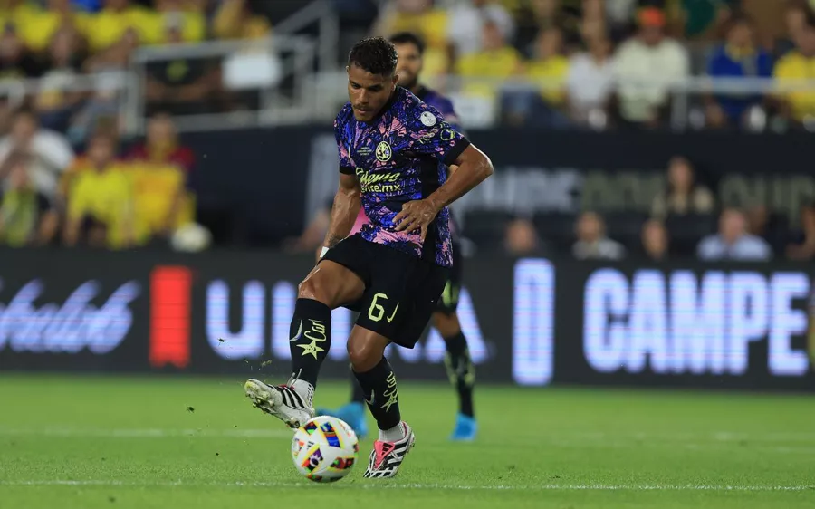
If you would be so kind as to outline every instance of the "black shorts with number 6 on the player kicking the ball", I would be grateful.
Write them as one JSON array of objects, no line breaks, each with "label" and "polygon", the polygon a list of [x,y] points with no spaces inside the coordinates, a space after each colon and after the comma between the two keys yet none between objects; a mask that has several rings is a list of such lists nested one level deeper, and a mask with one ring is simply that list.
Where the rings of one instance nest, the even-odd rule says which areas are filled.
[{"label": "black shorts with number 6 on the player kicking the ball", "polygon": [[322,258],[360,276],[365,293],[343,307],[360,312],[357,325],[413,348],[436,309],[449,269],[351,235]]}]

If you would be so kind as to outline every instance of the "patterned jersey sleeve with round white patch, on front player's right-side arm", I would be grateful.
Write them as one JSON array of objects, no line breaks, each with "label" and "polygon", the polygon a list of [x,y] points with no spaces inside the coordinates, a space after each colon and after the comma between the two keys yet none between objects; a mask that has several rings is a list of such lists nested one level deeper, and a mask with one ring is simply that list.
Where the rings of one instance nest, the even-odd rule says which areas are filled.
[{"label": "patterned jersey sleeve with round white patch, on front player's right-side arm", "polygon": [[436,108],[424,103],[408,110],[408,136],[411,152],[432,156],[447,166],[470,145]]}]

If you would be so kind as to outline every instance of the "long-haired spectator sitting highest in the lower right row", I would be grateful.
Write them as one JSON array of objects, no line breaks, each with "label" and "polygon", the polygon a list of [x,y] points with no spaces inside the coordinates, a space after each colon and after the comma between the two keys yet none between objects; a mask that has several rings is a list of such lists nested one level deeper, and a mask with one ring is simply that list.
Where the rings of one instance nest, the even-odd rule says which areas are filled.
[{"label": "long-haired spectator sitting highest in the lower right row", "polygon": [[711,214],[714,206],[713,193],[696,182],[690,161],[676,157],[668,163],[666,190],[654,197],[651,216],[665,219],[669,215]]}]

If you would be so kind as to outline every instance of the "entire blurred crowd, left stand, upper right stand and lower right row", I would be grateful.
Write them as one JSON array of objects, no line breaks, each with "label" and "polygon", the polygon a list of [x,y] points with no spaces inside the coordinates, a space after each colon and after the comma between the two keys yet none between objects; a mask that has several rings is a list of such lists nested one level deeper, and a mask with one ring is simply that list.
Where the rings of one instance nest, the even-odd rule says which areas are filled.
[{"label": "entire blurred crowd, left stand, upper right stand and lower right row", "polygon": [[[666,84],[626,80],[707,75],[783,82],[809,79],[815,69],[815,2],[806,0],[333,2],[343,19],[364,12],[365,34],[420,34],[428,84],[466,108],[500,105],[502,120],[513,125],[662,128],[671,110]],[[245,94],[225,88],[220,62],[153,65],[146,138],[133,140],[119,135],[119,89],[103,81],[115,81],[139,46],[273,34],[263,6],[263,0],[0,0],[2,242],[126,248],[160,244],[191,223],[196,156],[179,140],[173,116],[244,108]],[[92,91],[72,87],[82,75],[102,82]],[[26,79],[39,81],[22,100],[9,100],[4,87]],[[513,80],[540,86],[505,86]],[[692,123],[705,129],[807,129],[815,92],[708,93],[695,107]],[[812,207],[794,228],[761,207],[723,211],[714,193],[695,182],[692,161],[676,158],[668,166],[668,186],[648,216],[587,212],[561,218],[565,232],[554,231],[551,218],[514,218],[503,246],[515,254],[564,248],[578,258],[815,255]]]}]

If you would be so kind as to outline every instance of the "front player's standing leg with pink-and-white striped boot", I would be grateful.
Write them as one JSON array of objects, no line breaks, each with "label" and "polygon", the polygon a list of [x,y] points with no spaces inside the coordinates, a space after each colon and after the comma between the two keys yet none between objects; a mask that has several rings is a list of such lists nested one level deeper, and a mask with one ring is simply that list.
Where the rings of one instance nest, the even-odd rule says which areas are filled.
[{"label": "front player's standing leg with pink-and-white striped boot", "polygon": [[396,374],[385,358],[389,343],[383,335],[359,325],[354,326],[348,341],[351,370],[379,428],[365,477],[396,475],[416,440],[399,412]]}]

